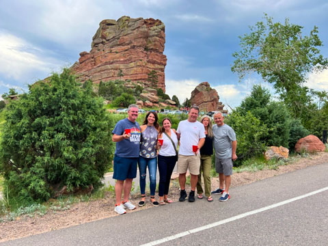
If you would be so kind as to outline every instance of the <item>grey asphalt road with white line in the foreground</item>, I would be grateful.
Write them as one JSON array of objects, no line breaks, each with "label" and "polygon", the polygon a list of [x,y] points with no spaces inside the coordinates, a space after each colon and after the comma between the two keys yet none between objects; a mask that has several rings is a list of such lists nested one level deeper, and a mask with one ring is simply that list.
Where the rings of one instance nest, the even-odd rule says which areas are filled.
[{"label": "grey asphalt road with white line in the foreground", "polygon": [[327,174],[316,165],[234,187],[228,202],[175,202],[0,245],[328,245]]}]

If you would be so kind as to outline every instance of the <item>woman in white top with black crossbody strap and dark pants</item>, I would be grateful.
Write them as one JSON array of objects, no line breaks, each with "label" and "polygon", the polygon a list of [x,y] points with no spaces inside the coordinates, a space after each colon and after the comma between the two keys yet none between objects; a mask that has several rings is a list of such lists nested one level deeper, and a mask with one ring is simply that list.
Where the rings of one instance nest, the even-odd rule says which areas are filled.
[{"label": "woman in white top with black crossbody strap and dark pants", "polygon": [[[161,133],[159,139],[163,139],[163,145],[159,150],[158,167],[159,167],[159,204],[165,205],[171,203],[172,200],[167,198],[169,193],[169,182],[171,175],[178,160],[177,147],[178,138],[176,130],[172,129],[172,122],[169,118],[163,119]],[[158,143],[160,145],[160,142]]]}]

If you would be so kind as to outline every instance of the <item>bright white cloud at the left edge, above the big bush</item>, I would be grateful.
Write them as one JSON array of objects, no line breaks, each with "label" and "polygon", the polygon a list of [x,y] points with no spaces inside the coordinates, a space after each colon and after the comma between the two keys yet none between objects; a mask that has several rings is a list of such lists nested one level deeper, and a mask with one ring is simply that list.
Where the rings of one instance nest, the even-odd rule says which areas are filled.
[{"label": "bright white cloud at the left edge, above the big bush", "polygon": [[42,50],[9,33],[0,32],[0,74],[15,80],[27,79],[35,72],[49,73],[59,64],[55,59],[42,57]]}]

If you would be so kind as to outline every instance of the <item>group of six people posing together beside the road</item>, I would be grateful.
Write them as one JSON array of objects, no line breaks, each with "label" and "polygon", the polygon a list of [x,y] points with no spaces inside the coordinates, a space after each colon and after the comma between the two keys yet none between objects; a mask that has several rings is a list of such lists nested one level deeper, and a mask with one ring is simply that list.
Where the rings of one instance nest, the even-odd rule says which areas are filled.
[{"label": "group of six people posing together beside the road", "polygon": [[[141,200],[138,206],[146,204],[146,173],[147,167],[150,178],[150,202],[153,206],[172,203],[169,200],[169,183],[174,167],[178,161],[180,197],[184,202],[195,202],[202,199],[203,193],[208,202],[213,202],[213,194],[221,194],[219,201],[230,198],[229,188],[232,175],[232,161],[236,156],[236,135],[234,130],[223,123],[222,113],[214,115],[215,125],[208,115],[197,121],[199,108],[191,107],[188,119],[178,124],[174,130],[169,118],[162,120],[156,112],[146,114],[143,124],[137,123],[139,108],[137,105],[128,107],[128,118],[120,120],[113,129],[112,140],[116,143],[113,159],[113,178],[115,183],[115,212],[120,215],[126,210],[133,210],[135,205],[128,202],[133,178],[137,176],[139,165]],[[180,141],[180,144],[178,143]],[[178,148],[179,146],[179,148]],[[219,188],[210,192],[210,169],[212,166],[213,146],[215,150],[215,169],[219,173]],[[179,149],[179,150],[178,150]],[[159,202],[155,199],[156,170],[159,169]],[[191,191],[185,190],[186,174],[191,175]],[[204,190],[202,188],[202,176]],[[123,200],[122,199],[123,193]]]}]

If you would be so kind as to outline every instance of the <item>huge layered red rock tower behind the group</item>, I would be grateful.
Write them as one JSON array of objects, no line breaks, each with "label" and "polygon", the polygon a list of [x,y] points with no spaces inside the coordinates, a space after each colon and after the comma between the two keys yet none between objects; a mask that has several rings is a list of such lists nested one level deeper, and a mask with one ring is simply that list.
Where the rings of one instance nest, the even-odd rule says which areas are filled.
[{"label": "huge layered red rock tower behind the group", "polygon": [[102,20],[92,38],[90,53],[80,53],[79,62],[72,66],[81,82],[93,83],[115,79],[141,81],[150,87],[148,73],[156,71],[157,87],[165,92],[166,55],[165,25],[153,18]]}]

